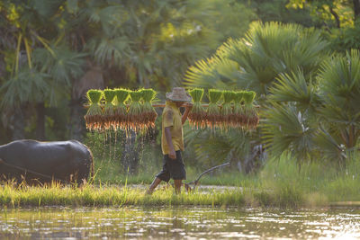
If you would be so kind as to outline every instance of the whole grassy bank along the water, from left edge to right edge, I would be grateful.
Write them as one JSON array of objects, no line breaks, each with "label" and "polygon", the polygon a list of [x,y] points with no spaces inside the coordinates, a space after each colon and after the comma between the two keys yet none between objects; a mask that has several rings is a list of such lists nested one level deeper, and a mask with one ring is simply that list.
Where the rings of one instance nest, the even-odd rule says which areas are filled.
[{"label": "whole grassy bank along the water, from left edge to right edge", "polygon": [[[119,184],[96,182],[82,189],[60,187],[0,187],[0,205],[20,206],[122,206],[122,205],[210,205],[210,206],[270,206],[270,207],[324,207],[335,201],[360,200],[360,163],[350,156],[347,164],[303,164],[301,170],[290,156],[270,160],[260,173],[243,175],[222,171],[205,176],[202,184],[235,185],[229,190],[182,192],[175,195],[172,189],[159,187],[153,195],[145,195],[152,173],[138,176],[119,175]],[[139,177],[140,176],[140,177]],[[148,176],[148,179],[147,177]],[[102,181],[103,182],[103,181]],[[130,183],[143,184],[134,189]]]}]

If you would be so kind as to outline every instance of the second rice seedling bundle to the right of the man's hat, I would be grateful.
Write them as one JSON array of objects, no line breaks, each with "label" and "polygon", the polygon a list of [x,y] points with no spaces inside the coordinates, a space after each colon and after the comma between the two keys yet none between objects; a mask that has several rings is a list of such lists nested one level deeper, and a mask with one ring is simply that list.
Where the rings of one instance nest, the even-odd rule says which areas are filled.
[{"label": "second rice seedling bundle to the right of the man's hat", "polygon": [[208,128],[215,129],[221,121],[220,108],[218,102],[222,96],[222,92],[216,89],[210,89],[208,93],[209,107],[206,112],[206,123]]}]

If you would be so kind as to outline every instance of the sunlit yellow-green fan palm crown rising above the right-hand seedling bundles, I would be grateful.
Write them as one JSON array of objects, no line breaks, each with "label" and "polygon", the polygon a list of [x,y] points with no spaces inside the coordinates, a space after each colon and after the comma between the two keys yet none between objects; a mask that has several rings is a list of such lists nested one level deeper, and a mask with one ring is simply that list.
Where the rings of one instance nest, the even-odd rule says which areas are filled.
[{"label": "sunlit yellow-green fan palm crown rising above the right-hand seedling bundles", "polygon": [[311,77],[327,56],[328,45],[319,32],[297,24],[254,22],[245,38],[225,42],[212,58],[190,67],[185,84],[211,87],[222,82],[268,94],[280,74],[301,68]]}]

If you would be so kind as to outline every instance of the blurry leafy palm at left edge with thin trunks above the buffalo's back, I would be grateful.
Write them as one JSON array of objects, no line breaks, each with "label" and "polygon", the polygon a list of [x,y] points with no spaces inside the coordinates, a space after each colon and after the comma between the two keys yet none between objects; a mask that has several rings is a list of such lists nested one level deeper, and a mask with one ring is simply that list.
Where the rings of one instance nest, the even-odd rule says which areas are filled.
[{"label": "blurry leafy palm at left edge with thin trunks above the buffalo's back", "polygon": [[[4,73],[5,80],[1,87],[4,93],[1,105],[3,109],[15,109],[15,114],[18,116],[14,120],[22,122],[24,121],[22,109],[29,105],[36,106],[37,138],[43,139],[45,138],[45,104],[56,103],[54,100],[59,97],[58,93],[66,92],[58,90],[68,86],[70,77],[81,74],[82,62],[77,62],[77,65],[74,61],[66,62],[68,59],[75,60],[72,51],[67,51],[70,56],[65,56],[63,49],[57,51],[51,48],[51,43],[44,37],[49,37],[49,34],[53,33],[54,24],[32,11],[37,7],[40,7],[39,1],[29,4],[23,4],[20,1],[4,1],[0,5],[0,11],[5,20],[2,31],[7,42],[2,42],[7,71]],[[43,53],[39,55],[41,48]],[[45,52],[48,56],[44,56]],[[44,63],[41,60],[47,61]],[[23,129],[25,124],[23,122],[15,125],[16,129]],[[14,138],[24,138],[23,133]]]}]

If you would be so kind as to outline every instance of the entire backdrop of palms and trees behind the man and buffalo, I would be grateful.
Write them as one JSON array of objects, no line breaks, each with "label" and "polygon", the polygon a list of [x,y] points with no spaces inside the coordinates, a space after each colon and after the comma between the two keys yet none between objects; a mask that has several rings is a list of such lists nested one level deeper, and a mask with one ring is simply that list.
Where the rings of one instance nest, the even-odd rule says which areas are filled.
[{"label": "entire backdrop of palms and trees behind the man and buffalo", "polygon": [[[184,84],[254,91],[260,105],[261,128],[251,133],[185,129],[189,155],[204,165],[229,160],[248,172],[263,164],[265,149],[275,156],[289,151],[299,162],[325,156],[345,163],[360,135],[357,3],[1,1],[0,142],[83,139],[89,89],[152,87],[164,100],[166,91]],[[112,95],[121,101],[109,102],[116,128],[123,126],[129,97],[118,90]],[[96,121],[99,108],[93,105],[89,116]],[[202,125],[216,126],[221,114],[231,122],[256,110],[250,104],[229,114],[216,104],[211,108],[214,119]],[[129,134],[130,143],[140,142]],[[155,129],[147,137],[157,148],[158,136]],[[127,153],[139,149],[119,148],[124,168],[127,161],[138,164],[139,156]]]}]

